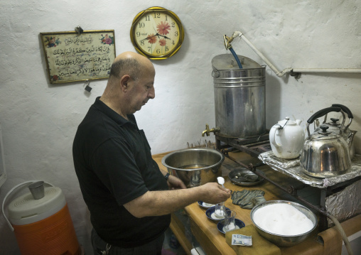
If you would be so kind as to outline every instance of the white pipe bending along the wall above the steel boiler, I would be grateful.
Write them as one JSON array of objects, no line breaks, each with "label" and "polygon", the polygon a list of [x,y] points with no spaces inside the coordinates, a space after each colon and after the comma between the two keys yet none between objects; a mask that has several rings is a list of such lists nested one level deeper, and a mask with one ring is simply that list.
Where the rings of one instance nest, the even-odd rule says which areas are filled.
[{"label": "white pipe bending along the wall above the steel boiler", "polygon": [[257,48],[256,46],[253,45],[253,43],[251,43],[242,32],[240,31],[235,31],[235,33],[233,33],[232,35],[232,40],[239,36],[239,38],[243,38],[243,40],[247,43],[247,45],[249,45],[250,48],[252,48],[252,50],[254,50],[255,53],[257,53],[257,55],[259,55],[260,58],[262,58],[262,60],[264,61],[264,63],[266,63],[266,65],[269,66],[269,68],[271,68],[272,71],[274,71],[274,73],[278,76],[278,77],[282,77],[284,75],[286,75],[289,72],[296,72],[296,73],[300,73],[300,72],[319,72],[319,73],[361,73],[361,68],[292,68],[292,67],[288,67],[285,68],[282,71],[279,71],[272,63],[271,61],[269,61]]}]

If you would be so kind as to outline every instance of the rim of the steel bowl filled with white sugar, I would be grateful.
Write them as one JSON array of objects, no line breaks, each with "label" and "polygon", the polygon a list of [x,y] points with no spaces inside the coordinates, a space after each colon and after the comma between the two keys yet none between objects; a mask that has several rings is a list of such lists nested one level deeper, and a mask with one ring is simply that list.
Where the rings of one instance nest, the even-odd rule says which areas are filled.
[{"label": "rim of the steel bowl filled with white sugar", "polygon": [[[256,224],[254,222],[254,220],[253,220],[254,212],[256,212],[260,207],[264,207],[264,206],[266,206],[268,204],[276,204],[276,203],[296,205],[298,207],[302,207],[303,209],[308,210],[309,212],[311,212],[311,215],[313,215],[314,219],[316,220],[315,224],[313,225],[313,228],[311,230],[309,230],[308,232],[304,232],[302,234],[286,235],[286,234],[275,234],[275,233],[266,231],[265,229],[262,229],[262,227],[259,227],[259,225]],[[305,236],[305,235],[310,234],[311,232],[313,232],[313,230],[315,230],[316,227],[318,226],[317,215],[314,212],[312,212],[306,206],[299,204],[298,202],[292,202],[292,201],[288,201],[288,200],[268,200],[268,201],[262,202],[262,203],[260,203],[260,204],[258,204],[258,205],[256,205],[255,207],[252,208],[250,216],[251,216],[252,223],[254,224],[255,227],[257,227],[258,229],[262,230],[263,232],[265,232],[267,234],[272,234],[272,235],[274,235],[276,237],[287,237],[287,238],[290,238],[290,237],[302,237],[302,236]]]}]

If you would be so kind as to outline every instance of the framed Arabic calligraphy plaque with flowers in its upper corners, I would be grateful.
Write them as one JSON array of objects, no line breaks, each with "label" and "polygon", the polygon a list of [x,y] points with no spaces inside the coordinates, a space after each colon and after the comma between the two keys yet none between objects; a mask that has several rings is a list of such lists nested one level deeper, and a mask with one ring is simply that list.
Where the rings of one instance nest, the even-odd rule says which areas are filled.
[{"label": "framed Arabic calligraphy plaque with flowers in its upper corners", "polygon": [[40,34],[50,83],[109,77],[115,58],[114,30]]}]

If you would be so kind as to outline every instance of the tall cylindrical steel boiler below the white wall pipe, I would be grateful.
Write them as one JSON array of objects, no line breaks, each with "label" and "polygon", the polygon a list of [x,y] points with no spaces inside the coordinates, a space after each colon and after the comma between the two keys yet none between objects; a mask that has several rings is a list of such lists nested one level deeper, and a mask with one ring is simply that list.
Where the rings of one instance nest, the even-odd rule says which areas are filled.
[{"label": "tall cylindrical steel boiler below the white wall pipe", "polygon": [[219,136],[249,138],[266,133],[266,67],[238,57],[242,69],[230,54],[212,59],[215,126]]}]

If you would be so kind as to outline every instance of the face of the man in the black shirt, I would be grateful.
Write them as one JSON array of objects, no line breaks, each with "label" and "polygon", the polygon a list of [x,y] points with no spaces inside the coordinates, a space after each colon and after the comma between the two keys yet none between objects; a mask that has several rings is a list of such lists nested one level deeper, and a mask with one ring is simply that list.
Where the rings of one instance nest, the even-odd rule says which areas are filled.
[{"label": "face of the man in the black shirt", "polygon": [[132,114],[139,111],[149,99],[153,99],[156,94],[154,91],[154,72],[146,72],[138,80],[132,80],[130,94],[129,110]]}]

